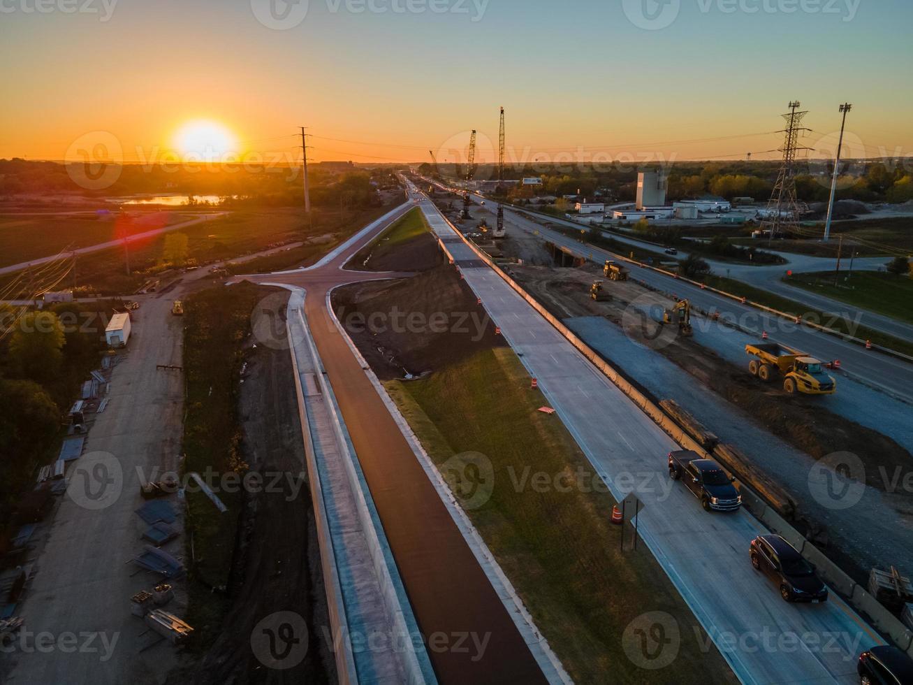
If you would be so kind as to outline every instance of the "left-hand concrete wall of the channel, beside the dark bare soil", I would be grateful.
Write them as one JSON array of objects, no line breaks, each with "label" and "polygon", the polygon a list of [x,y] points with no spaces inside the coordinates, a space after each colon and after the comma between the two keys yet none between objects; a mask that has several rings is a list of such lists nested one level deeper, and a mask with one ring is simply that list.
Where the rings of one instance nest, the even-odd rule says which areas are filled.
[{"label": "left-hand concrete wall of the channel, beside the dark bare soil", "polygon": [[[294,297],[294,295],[293,295]],[[289,316],[291,321],[291,304],[289,303]],[[317,458],[314,454],[314,445],[310,438],[310,425],[307,410],[304,404],[304,394],[301,389],[301,375],[298,359],[295,357],[295,344],[291,329],[289,335],[289,354],[291,354],[292,369],[295,373],[295,395],[298,398],[298,416],[301,424],[301,436],[304,438],[304,452],[308,467],[308,481],[310,484],[310,499],[314,506],[314,519],[317,528],[317,541],[320,546],[320,567],[323,572],[323,585],[327,593],[327,613],[330,618],[330,627],[337,638],[334,656],[336,659],[336,674],[341,685],[355,685],[358,682],[358,671],[355,669],[355,659],[352,653],[352,641],[349,638],[349,622],[346,618],[345,604],[342,601],[342,589],[339,568],[336,565],[336,553],[330,534],[330,522],[323,503],[323,489],[320,485],[320,471],[317,469]]]}]

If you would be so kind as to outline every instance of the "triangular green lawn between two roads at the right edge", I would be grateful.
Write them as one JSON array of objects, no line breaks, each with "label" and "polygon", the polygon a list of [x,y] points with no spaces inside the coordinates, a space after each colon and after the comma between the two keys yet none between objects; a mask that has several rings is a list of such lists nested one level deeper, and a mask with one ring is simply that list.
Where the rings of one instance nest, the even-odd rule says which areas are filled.
[{"label": "triangular green lawn between two roads at the right edge", "polygon": [[842,272],[835,286],[834,271],[822,271],[783,280],[809,292],[913,323],[913,279],[907,277],[878,271],[854,271],[851,276]]}]

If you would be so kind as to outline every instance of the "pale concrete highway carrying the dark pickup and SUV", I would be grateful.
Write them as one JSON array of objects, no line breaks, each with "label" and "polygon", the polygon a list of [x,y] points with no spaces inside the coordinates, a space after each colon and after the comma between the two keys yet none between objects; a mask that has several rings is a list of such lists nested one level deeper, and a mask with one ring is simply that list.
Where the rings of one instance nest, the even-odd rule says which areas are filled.
[{"label": "pale concrete highway carrying the dark pickup and SUV", "polygon": [[[422,208],[439,236],[453,236],[430,201]],[[635,490],[644,502],[643,539],[740,680],[855,681],[858,653],[882,642],[876,632],[833,595],[817,606],[784,603],[750,566],[761,523],[746,511],[709,514],[680,483],[669,489],[666,454],[677,445],[493,270],[473,266],[470,248],[448,247],[615,497]]]}]

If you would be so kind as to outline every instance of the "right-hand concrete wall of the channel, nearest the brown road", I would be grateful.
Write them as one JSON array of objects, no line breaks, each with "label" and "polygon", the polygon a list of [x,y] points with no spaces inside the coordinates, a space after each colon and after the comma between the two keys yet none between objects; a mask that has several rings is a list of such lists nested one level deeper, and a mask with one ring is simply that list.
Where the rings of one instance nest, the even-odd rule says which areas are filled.
[{"label": "right-hand concrete wall of the channel, nearest the brown road", "polygon": [[[358,507],[359,521],[362,524],[365,541],[368,544],[369,553],[374,568],[374,574],[378,578],[381,591],[383,593],[383,602],[390,616],[391,625],[396,630],[397,635],[404,638],[411,637],[418,629],[415,623],[415,617],[412,616],[412,607],[408,606],[402,581],[399,574],[395,571],[396,565],[393,553],[383,535],[383,525],[380,517],[370,501],[370,490],[361,469],[355,463],[354,448],[349,438],[348,431],[345,430],[345,423],[341,416],[341,410],[336,402],[336,395],[333,394],[332,386],[327,378],[323,363],[320,361],[320,354],[317,352],[317,346],[314,344],[310,335],[310,329],[304,320],[303,311],[298,312],[301,325],[304,327],[305,342],[310,350],[311,358],[317,367],[317,379],[320,385],[320,392],[327,400],[327,406],[330,409],[333,432],[336,435],[337,442],[340,446],[342,458],[346,473],[349,476],[350,486]],[[382,539],[383,538],[383,539]],[[395,579],[394,579],[395,574]],[[406,618],[408,613],[411,619]],[[413,645],[413,648],[406,649],[399,654],[402,656],[402,665],[406,682],[412,685],[420,685],[426,682],[436,682],[434,670],[431,667],[431,660],[428,658],[425,648],[415,647],[411,639],[404,639],[404,644]]]}]

